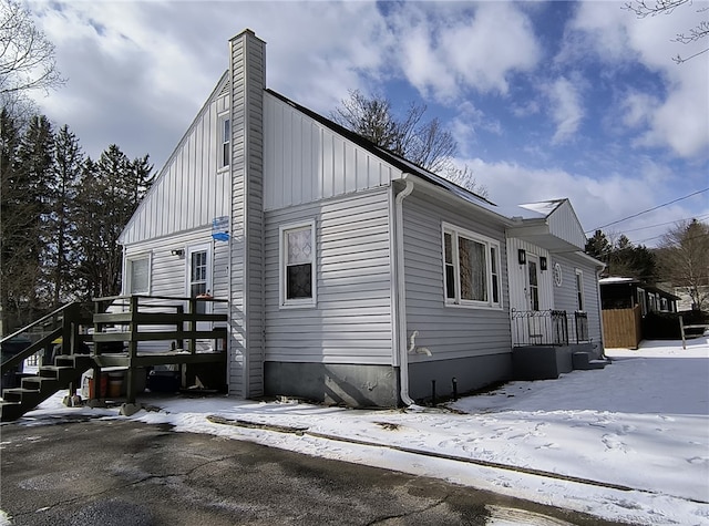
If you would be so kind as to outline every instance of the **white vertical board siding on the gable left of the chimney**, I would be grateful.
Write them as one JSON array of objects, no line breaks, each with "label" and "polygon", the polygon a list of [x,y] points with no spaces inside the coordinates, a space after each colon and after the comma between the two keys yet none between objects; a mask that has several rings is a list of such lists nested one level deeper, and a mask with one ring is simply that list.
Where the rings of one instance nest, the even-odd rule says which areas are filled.
[{"label": "white vertical board siding on the gable left of the chimney", "polygon": [[[220,85],[226,82],[224,78]],[[229,192],[226,178],[217,173],[217,114],[226,104],[225,95],[213,94],[207,101],[129,221],[121,243],[191,230],[228,214],[217,198]]]}]

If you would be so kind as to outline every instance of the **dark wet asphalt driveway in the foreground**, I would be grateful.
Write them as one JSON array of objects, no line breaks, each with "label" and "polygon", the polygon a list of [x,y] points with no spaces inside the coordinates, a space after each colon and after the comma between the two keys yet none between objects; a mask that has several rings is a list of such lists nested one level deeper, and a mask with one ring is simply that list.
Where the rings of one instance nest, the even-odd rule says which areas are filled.
[{"label": "dark wet asphalt driveway in the foreground", "polygon": [[[11,524],[606,525],[418,477],[129,420],[0,426]],[[543,514],[543,516],[535,515]],[[501,523],[497,523],[501,524]]]}]

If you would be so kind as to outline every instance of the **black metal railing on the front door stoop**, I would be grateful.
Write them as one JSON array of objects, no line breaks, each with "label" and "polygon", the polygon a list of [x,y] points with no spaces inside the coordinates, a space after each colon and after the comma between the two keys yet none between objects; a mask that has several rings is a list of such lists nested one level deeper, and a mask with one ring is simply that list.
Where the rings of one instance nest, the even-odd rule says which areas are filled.
[{"label": "black metal railing on the front door stoop", "polygon": [[565,310],[512,309],[510,319],[513,347],[568,345],[590,341],[586,312],[574,312],[569,323]]}]

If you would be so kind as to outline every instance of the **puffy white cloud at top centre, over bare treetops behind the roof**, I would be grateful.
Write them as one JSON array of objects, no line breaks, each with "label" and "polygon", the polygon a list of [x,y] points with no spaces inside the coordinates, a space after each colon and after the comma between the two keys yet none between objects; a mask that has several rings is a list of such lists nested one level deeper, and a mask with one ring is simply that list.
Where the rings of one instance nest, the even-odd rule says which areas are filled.
[{"label": "puffy white cloud at top centre, over bare treetops behind the roof", "polygon": [[[473,9],[474,6],[474,9]],[[391,16],[400,35],[402,74],[441,101],[469,90],[505,94],[508,78],[534,69],[534,28],[512,3],[405,4]]]}]

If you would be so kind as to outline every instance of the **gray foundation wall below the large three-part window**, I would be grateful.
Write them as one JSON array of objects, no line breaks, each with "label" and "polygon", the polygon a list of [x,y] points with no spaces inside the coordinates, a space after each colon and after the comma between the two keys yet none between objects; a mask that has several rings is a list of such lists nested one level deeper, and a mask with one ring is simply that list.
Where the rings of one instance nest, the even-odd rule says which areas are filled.
[{"label": "gray foundation wall below the large three-part window", "polygon": [[511,353],[410,363],[409,395],[415,401],[430,400],[433,380],[436,398],[443,398],[453,394],[453,378],[462,394],[508,380],[511,375]]}]

